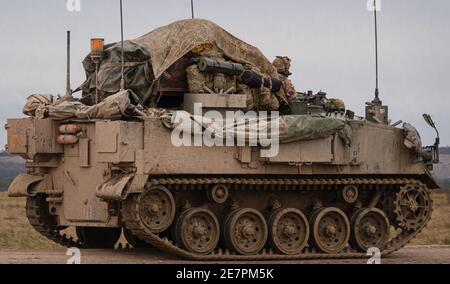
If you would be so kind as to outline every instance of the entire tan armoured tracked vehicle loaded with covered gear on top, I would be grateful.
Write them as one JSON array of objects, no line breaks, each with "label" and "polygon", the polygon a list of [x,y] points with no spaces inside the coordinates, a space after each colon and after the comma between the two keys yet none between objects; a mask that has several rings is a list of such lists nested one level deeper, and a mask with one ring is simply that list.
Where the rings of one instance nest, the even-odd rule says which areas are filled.
[{"label": "entire tan armoured tracked vehicle loaded with covered gear on top", "polygon": [[[28,168],[9,196],[26,197],[30,224],[56,243],[110,248],[123,231],[134,247],[196,260],[349,258],[390,254],[430,220],[438,140],[422,147],[379,100],[357,117],[326,107],[324,93],[286,99],[260,51],[211,22],[176,22],[123,49],[94,40],[84,66],[80,100],[34,95],[30,117],[6,125],[7,150]],[[173,142],[177,117],[205,134],[214,123],[198,118],[211,110],[279,110],[268,117],[280,127],[276,155],[261,140]]]}]

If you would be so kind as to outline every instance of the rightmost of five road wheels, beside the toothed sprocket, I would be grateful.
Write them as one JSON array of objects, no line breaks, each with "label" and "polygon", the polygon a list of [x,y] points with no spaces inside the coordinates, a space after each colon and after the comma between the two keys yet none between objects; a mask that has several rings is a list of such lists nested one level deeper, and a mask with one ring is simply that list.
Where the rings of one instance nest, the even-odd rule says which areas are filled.
[{"label": "rightmost of five road wheels, beside the toothed sprocket", "polygon": [[389,240],[389,220],[378,208],[359,209],[353,214],[350,224],[350,243],[360,252],[367,252],[372,247],[381,250]]}]

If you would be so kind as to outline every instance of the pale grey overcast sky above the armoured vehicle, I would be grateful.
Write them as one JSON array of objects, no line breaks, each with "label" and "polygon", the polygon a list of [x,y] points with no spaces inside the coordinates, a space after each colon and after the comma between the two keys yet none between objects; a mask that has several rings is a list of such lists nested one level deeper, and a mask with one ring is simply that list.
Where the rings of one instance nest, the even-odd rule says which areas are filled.
[{"label": "pale grey overcast sky above the armoured vehicle", "polygon": [[[20,117],[33,93],[64,94],[65,36],[72,31],[72,85],[84,81],[82,59],[92,37],[120,39],[119,0],[1,1],[0,123]],[[367,0],[195,0],[196,16],[253,44],[273,60],[293,60],[298,90],[324,90],[363,115],[373,99],[373,16]],[[414,124],[425,144],[434,132],[450,144],[450,1],[381,0],[379,14],[381,99],[391,119]],[[190,17],[189,0],[124,0],[125,37]],[[0,148],[6,144],[0,131]]]}]

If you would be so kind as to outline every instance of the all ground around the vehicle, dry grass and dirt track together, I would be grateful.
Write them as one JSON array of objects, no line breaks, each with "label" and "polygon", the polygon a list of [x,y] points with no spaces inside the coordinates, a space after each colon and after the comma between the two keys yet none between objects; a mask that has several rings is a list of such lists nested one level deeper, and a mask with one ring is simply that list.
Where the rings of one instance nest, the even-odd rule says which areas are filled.
[{"label": "all ground around the vehicle, dry grass and dirt track together", "polygon": [[[382,263],[448,263],[450,264],[450,195],[433,194],[433,218],[408,246]],[[39,235],[25,217],[24,199],[7,198],[0,193],[0,264],[1,263],[66,263],[66,249]],[[73,230],[67,232],[74,235]],[[122,237],[122,246],[126,241]],[[82,263],[158,264],[186,263],[158,251],[84,250]],[[291,263],[365,263],[366,260],[297,261]],[[187,262],[189,263],[189,262]]]}]

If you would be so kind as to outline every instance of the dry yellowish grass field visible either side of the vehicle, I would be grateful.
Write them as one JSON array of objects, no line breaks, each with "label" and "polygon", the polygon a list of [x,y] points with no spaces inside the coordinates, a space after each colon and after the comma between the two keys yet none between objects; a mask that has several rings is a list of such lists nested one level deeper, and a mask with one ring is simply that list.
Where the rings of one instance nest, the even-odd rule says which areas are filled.
[{"label": "dry yellowish grass field visible either side of the vehicle", "polygon": [[[450,194],[435,193],[433,200],[433,218],[413,244],[450,245]],[[25,199],[8,198],[6,193],[0,193],[0,249],[58,248],[28,224],[24,207]],[[73,231],[68,233],[72,235]],[[125,243],[123,238],[120,242]]]}]

